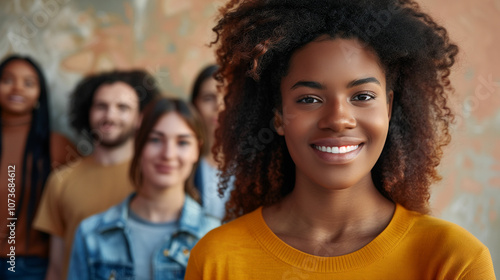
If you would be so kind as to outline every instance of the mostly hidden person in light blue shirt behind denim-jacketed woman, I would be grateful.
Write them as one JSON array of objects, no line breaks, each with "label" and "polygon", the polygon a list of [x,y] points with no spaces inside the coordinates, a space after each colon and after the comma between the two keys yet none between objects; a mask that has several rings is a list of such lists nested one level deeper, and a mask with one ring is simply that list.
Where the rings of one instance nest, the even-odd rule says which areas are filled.
[{"label": "mostly hidden person in light blue shirt behind denim-jacketed woman", "polygon": [[225,204],[229,199],[231,188],[219,196],[219,169],[216,157],[211,148],[215,141],[215,130],[219,127],[219,112],[224,106],[224,94],[217,88],[214,78],[219,69],[217,65],[208,65],[196,77],[191,92],[191,103],[200,113],[207,130],[207,145],[209,150],[200,160],[195,175],[195,184],[198,187],[202,205],[205,211],[219,219],[224,218]]}]

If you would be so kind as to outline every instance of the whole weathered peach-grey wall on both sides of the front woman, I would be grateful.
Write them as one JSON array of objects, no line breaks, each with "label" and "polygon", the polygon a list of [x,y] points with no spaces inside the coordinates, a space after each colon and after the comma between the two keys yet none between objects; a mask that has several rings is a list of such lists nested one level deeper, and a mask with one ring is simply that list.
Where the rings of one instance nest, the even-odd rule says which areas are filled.
[{"label": "whole weathered peach-grey wall on both sides of the front woman", "polygon": [[[452,73],[457,122],[434,186],[435,216],[485,243],[500,278],[500,0],[419,0],[460,47]],[[85,75],[144,68],[168,96],[188,98],[214,62],[211,31],[224,1],[9,0],[0,3],[0,59],[30,55],[45,71],[53,130],[72,138],[68,96]],[[418,75],[418,73],[415,73]]]}]

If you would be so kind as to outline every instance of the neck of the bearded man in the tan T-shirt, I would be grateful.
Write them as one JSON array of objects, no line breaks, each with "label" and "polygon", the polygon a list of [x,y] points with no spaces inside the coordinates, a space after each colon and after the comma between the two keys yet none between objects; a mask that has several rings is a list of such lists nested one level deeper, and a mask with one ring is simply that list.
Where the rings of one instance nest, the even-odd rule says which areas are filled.
[{"label": "neck of the bearded man in the tan T-shirt", "polygon": [[93,157],[102,165],[114,165],[125,162],[132,158],[134,142],[132,138],[117,147],[104,147],[95,145]]}]

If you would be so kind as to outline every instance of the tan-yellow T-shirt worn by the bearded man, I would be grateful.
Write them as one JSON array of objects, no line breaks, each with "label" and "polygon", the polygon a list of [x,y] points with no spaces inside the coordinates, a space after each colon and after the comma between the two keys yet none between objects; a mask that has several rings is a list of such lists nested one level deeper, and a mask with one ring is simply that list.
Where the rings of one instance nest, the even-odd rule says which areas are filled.
[{"label": "tan-yellow T-shirt worn by the bearded man", "polygon": [[53,172],[45,186],[34,227],[64,239],[66,275],[75,231],[80,222],[120,203],[133,191],[130,161],[104,166],[92,156]]}]

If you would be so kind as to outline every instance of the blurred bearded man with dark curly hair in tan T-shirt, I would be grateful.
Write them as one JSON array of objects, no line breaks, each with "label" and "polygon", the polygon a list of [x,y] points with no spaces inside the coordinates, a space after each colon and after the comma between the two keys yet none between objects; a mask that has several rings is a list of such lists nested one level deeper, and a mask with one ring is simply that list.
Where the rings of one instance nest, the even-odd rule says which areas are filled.
[{"label": "blurred bearded man with dark curly hair in tan T-shirt", "polygon": [[64,279],[73,236],[85,218],[133,190],[127,172],[140,112],[159,94],[142,70],[89,76],[71,96],[70,124],[93,146],[91,155],[49,177],[35,227],[51,235],[47,279]]}]

